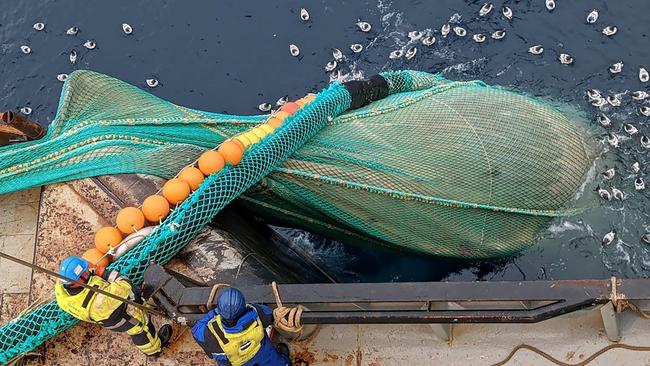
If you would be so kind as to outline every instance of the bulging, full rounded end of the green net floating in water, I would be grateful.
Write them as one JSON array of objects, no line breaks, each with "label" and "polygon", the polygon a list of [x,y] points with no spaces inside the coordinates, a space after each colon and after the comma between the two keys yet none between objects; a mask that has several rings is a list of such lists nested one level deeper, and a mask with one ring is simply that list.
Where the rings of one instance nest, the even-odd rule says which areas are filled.
[{"label": "bulging, full rounded end of the green net floating in water", "polygon": [[574,211],[567,204],[591,162],[584,135],[545,103],[438,80],[341,115],[244,204],[269,221],[348,241],[509,255]]}]

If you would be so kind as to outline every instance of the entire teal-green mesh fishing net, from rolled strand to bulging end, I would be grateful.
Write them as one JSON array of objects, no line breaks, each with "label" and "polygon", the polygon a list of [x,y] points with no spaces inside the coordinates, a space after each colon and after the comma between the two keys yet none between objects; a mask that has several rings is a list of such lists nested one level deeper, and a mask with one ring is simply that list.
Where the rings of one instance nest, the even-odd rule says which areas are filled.
[{"label": "entire teal-green mesh fishing net, from rolled strand to bulging end", "polygon": [[[573,212],[591,155],[565,115],[482,82],[382,76],[391,95],[358,110],[344,113],[350,95],[340,84],[319,93],[111,266],[139,283],[150,261],[167,262],[237,197],[269,221],[463,258],[519,251]],[[0,193],[101,174],[169,178],[264,118],[191,110],[78,71],[42,140],[0,148]],[[55,302],[11,321],[0,329],[0,361],[75,322]]]}]

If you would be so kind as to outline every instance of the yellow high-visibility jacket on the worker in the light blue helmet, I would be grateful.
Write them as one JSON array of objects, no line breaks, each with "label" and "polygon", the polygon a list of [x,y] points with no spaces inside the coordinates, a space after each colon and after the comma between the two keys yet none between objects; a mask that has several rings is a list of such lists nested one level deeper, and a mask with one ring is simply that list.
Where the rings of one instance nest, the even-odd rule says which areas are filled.
[{"label": "yellow high-visibility jacket on the worker in the light blue helmet", "polygon": [[[99,288],[122,299],[128,298],[132,292],[131,284],[124,279],[108,282],[96,275],[90,277],[88,286]],[[117,308],[124,304],[122,301],[98,294],[87,288],[76,295],[71,295],[61,282],[57,282],[54,292],[56,302],[61,309],[79,320],[92,323],[108,319]]]}]

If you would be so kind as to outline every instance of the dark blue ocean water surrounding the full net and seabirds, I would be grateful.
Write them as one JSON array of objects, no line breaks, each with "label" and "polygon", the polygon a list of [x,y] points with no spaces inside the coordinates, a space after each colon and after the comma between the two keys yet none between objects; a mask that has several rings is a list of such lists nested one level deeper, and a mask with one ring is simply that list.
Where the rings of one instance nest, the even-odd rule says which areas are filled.
[{"label": "dark blue ocean water surrounding the full net and seabirds", "polygon": [[[617,168],[607,186],[621,188],[626,199],[558,220],[530,249],[498,261],[396,255],[384,249],[370,253],[289,231],[296,245],[343,281],[646,277],[650,251],[639,238],[650,229],[649,190],[635,192],[632,182],[635,176],[647,176],[650,166],[649,152],[640,148],[638,138],[650,134],[648,118],[637,112],[648,102],[632,101],[630,92],[648,89],[638,71],[641,66],[650,69],[650,2],[557,0],[553,12],[543,0],[505,3],[514,12],[511,22],[500,14],[503,1],[493,1],[494,10],[484,18],[478,17],[483,2],[458,0],[16,1],[0,13],[0,109],[29,106],[31,118],[49,123],[62,85],[56,75],[91,69],[187,107],[256,114],[261,102],[326,87],[329,76],[323,66],[332,58],[332,47],[348,54],[348,62],[340,66],[343,72],[372,75],[415,69],[442,72],[455,80],[481,79],[582,111],[592,121],[593,140],[603,147],[599,164]],[[309,22],[300,20],[301,7],[308,9]],[[585,18],[593,8],[600,10],[600,18],[588,25]],[[440,27],[452,16],[460,17],[468,36],[443,40]],[[359,18],[372,24],[371,32],[357,30]],[[36,22],[46,23],[45,30],[32,29]],[[125,35],[122,23],[130,24],[133,34]],[[603,36],[607,25],[616,25],[618,33]],[[72,26],[79,27],[79,33],[65,35]],[[497,29],[506,30],[503,40],[471,40],[474,33]],[[410,61],[389,60],[390,51],[407,45],[406,34],[412,30],[432,32],[438,41],[429,48],[420,46]],[[97,48],[85,49],[86,40],[94,40]],[[300,47],[301,57],[289,55],[291,43]],[[352,55],[352,43],[366,49]],[[543,55],[527,53],[534,44],[544,46]],[[22,54],[21,45],[31,47],[32,53]],[[73,49],[79,54],[75,65],[68,60]],[[575,63],[561,65],[560,52],[571,54]],[[625,64],[623,72],[611,75],[607,69],[618,61]],[[158,79],[160,85],[148,88],[148,78]],[[613,120],[612,132],[627,136],[622,130],[627,122],[640,133],[625,137],[618,149],[600,143],[606,129],[594,122],[597,110],[584,96],[588,88],[620,94],[623,105],[605,111]],[[634,161],[641,163],[636,175],[630,170]],[[604,247],[600,240],[612,228],[617,240]]]}]

